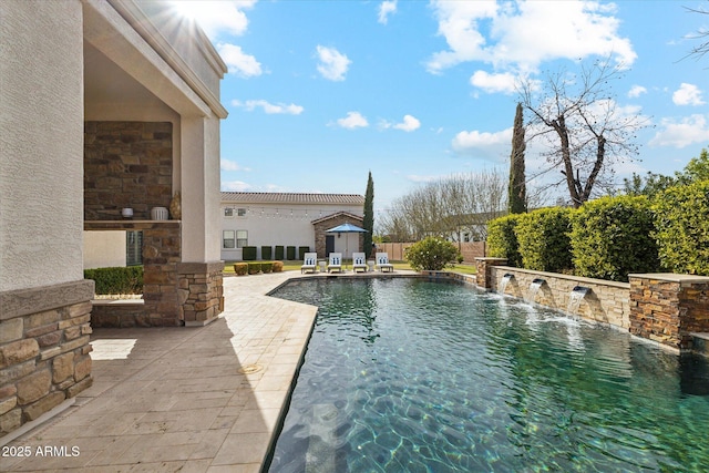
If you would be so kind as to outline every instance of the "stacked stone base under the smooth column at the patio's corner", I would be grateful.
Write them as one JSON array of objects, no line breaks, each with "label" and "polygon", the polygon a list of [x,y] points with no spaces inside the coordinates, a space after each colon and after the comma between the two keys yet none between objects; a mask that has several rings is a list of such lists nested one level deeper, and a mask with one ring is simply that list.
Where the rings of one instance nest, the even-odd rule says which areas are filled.
[{"label": "stacked stone base under the smooth column at the patio's corner", "polygon": [[187,327],[203,326],[224,311],[224,263],[178,265],[178,304]]}]

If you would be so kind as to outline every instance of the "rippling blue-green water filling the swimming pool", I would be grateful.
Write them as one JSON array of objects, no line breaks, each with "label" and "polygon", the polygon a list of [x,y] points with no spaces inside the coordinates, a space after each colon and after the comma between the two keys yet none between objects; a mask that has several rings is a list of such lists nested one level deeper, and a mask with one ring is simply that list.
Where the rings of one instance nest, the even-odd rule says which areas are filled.
[{"label": "rippling blue-green water filling the swimming pool", "polygon": [[709,369],[612,328],[421,279],[319,306],[271,472],[707,472]]}]

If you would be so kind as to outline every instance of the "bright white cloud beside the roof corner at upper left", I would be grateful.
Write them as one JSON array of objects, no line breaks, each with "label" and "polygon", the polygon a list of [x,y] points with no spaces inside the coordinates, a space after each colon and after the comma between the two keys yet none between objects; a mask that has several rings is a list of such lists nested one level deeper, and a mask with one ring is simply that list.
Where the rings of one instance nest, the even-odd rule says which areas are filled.
[{"label": "bright white cloud beside the roof corner at upper left", "polygon": [[194,19],[212,41],[219,33],[244,34],[248,27],[248,19],[244,9],[256,3],[256,0],[213,1],[213,0],[176,0],[173,8],[186,18]]}]

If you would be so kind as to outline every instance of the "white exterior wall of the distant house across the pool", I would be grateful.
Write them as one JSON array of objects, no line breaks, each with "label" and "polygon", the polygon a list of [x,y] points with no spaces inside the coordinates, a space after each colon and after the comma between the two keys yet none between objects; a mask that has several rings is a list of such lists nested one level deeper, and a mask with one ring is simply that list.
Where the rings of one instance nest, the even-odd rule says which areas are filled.
[{"label": "white exterior wall of the distant house across the pool", "polygon": [[[225,208],[246,208],[244,217],[225,217]],[[236,210],[235,210],[236,212]],[[299,205],[299,204],[239,204],[222,203],[222,229],[223,230],[247,230],[248,246],[257,247],[257,256],[260,255],[261,246],[308,246],[315,251],[315,228],[312,220],[328,215],[348,212],[353,215],[362,215],[361,205]],[[357,244],[352,238],[350,243]],[[219,235],[222,245],[222,235]],[[335,239],[335,250],[345,253],[346,239],[343,237]],[[274,249],[275,251],[275,249]],[[351,251],[351,250],[350,250]],[[242,249],[222,248],[222,259],[225,261],[242,260]]]}]

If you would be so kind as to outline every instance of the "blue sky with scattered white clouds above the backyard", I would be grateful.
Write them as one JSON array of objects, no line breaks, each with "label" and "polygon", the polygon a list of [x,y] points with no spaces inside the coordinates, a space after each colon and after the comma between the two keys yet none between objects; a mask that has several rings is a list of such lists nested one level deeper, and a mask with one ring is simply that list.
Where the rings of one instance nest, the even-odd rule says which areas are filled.
[{"label": "blue sky with scattered white clouds above the backyard", "polygon": [[[671,174],[709,146],[706,0],[177,1],[229,68],[222,189],[364,193],[379,212],[430,179],[508,168],[514,79],[610,58],[618,106],[648,119],[639,155]],[[541,165],[535,147],[527,172]],[[559,195],[565,195],[564,189]]]}]

